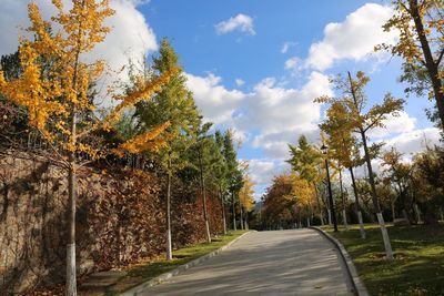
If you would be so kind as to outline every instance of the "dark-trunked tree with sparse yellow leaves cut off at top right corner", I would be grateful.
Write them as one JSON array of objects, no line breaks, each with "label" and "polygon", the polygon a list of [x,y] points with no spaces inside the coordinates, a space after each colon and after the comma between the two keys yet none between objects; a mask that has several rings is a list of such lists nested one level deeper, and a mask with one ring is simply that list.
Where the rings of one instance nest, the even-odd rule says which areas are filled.
[{"label": "dark-trunked tree with sparse yellow leaves cut off at top right corner", "polygon": [[[396,30],[400,39],[396,44],[380,44],[376,50],[390,50],[404,59],[404,79],[421,82],[431,89],[441,129],[444,129],[443,68],[444,22],[442,0],[394,0],[394,14],[384,24],[385,31]],[[424,75],[425,74],[425,75]],[[420,89],[422,89],[420,86]],[[413,86],[416,90],[417,85]]]}]

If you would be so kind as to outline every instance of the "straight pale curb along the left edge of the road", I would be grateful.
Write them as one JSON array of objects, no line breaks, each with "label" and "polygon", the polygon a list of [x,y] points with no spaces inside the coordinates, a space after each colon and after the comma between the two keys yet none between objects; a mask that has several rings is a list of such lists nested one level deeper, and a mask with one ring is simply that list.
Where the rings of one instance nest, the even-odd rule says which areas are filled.
[{"label": "straight pale curb along the left edge of the road", "polygon": [[119,296],[137,296],[137,295],[140,295],[147,288],[155,286],[155,285],[159,285],[160,283],[162,283],[162,282],[164,282],[164,280],[167,280],[167,279],[169,279],[169,278],[171,278],[173,276],[176,276],[180,273],[183,273],[184,271],[189,269],[190,267],[193,267],[193,266],[195,266],[198,264],[201,264],[202,262],[204,262],[204,261],[206,261],[206,259],[209,259],[211,257],[216,256],[219,253],[221,253],[222,251],[229,248],[231,245],[233,245],[235,242],[241,239],[243,236],[248,235],[249,233],[253,233],[253,232],[255,232],[255,231],[250,231],[248,233],[244,233],[241,236],[239,236],[239,237],[234,238],[233,241],[231,241],[230,243],[228,243],[226,245],[223,245],[220,248],[218,248],[218,249],[215,249],[215,251],[213,251],[213,252],[211,252],[211,253],[209,253],[206,255],[203,255],[202,257],[199,257],[199,258],[193,259],[193,261],[191,261],[191,262],[189,262],[186,264],[183,264],[183,265],[179,266],[178,268],[175,268],[175,269],[173,269],[171,272],[168,272],[168,273],[161,274],[160,276],[151,278],[150,280],[147,280],[147,282],[144,282],[144,283],[142,283],[142,284],[140,284],[140,285],[127,290],[127,292],[123,292],[123,293],[119,294]]}]

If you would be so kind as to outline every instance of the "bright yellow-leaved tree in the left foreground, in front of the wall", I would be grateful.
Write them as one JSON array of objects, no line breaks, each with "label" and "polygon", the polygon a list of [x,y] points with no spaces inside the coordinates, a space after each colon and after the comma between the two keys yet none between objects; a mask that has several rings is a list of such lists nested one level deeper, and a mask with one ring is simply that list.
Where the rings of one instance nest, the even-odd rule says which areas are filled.
[{"label": "bright yellow-leaved tree in the left foreground, in front of the wall", "polygon": [[[50,144],[57,161],[68,171],[68,237],[67,237],[67,295],[77,295],[75,282],[75,198],[77,171],[84,164],[78,155],[87,153],[90,160],[103,156],[107,151],[91,144],[91,133],[109,130],[120,113],[143,99],[149,99],[172,75],[167,72],[147,82],[130,95],[112,95],[117,108],[104,120],[94,115],[91,95],[93,82],[103,75],[105,62],[87,62],[87,54],[102,42],[110,28],[103,25],[114,11],[108,0],[72,0],[68,10],[61,0],[52,0],[57,14],[44,21],[38,6],[28,7],[31,25],[27,29],[34,40],[20,38],[21,75],[7,80],[0,71],[0,92],[14,104],[28,111],[29,124]],[[41,60],[50,60],[42,68]],[[147,133],[123,143],[118,151],[139,153],[159,149],[160,139],[169,125],[163,123]]]}]

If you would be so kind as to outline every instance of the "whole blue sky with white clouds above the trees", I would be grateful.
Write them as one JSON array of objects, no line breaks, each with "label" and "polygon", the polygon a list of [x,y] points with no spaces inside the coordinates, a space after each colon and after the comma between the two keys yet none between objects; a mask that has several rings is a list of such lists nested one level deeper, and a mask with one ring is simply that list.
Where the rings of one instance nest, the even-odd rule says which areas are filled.
[{"label": "whole blue sky with white clouds above the trees", "polygon": [[[68,0],[65,0],[67,2]],[[27,24],[28,0],[2,0],[0,54],[17,49],[18,25]],[[36,1],[48,17],[51,1]],[[372,103],[384,93],[404,98],[397,82],[401,61],[374,53],[377,43],[396,41],[381,25],[392,14],[390,1],[342,0],[111,0],[114,30],[94,57],[114,68],[128,59],[155,54],[168,37],[186,71],[205,120],[233,129],[250,161],[256,195],[274,174],[287,170],[286,143],[301,134],[319,142],[324,106],[316,96],[333,94],[329,76],[365,71]],[[279,3],[279,4],[278,4]],[[414,153],[438,132],[426,120],[425,98],[407,99],[405,112],[374,131],[372,141]]]}]

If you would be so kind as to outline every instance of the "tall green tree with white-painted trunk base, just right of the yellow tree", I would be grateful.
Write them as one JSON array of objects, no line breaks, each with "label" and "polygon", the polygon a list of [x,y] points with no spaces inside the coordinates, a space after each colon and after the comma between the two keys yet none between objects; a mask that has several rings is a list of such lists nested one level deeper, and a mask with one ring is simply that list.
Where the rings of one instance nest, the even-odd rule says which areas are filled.
[{"label": "tall green tree with white-painted trunk base, just right of the yellow tree", "polygon": [[135,105],[134,116],[138,129],[142,133],[157,126],[162,122],[169,122],[165,133],[170,141],[158,152],[159,163],[167,174],[167,198],[165,198],[165,228],[167,228],[167,259],[172,259],[171,238],[171,184],[172,176],[178,171],[190,165],[186,159],[181,157],[183,153],[195,142],[196,131],[201,118],[195,106],[192,93],[186,89],[185,75],[179,67],[179,57],[167,39],[160,47],[160,55],[153,59],[153,76],[176,71],[161,91],[150,101],[142,101]]}]

